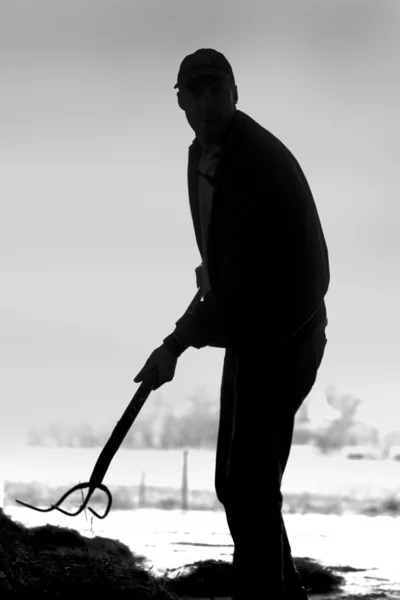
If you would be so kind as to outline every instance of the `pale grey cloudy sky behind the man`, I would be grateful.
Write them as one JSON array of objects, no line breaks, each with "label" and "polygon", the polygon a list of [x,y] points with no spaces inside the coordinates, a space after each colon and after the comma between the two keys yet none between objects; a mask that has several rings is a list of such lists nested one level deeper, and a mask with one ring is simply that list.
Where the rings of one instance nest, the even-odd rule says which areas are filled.
[{"label": "pale grey cloudy sky behind the man", "polygon": [[[41,421],[111,432],[195,294],[195,134],[173,86],[201,47],[226,55],[238,108],[317,204],[332,279],[311,417],[332,414],[332,385],[400,428],[399,20],[396,0],[2,0],[3,440]],[[190,349],[154,395],[179,410],[204,385],[217,401],[222,362]]]}]

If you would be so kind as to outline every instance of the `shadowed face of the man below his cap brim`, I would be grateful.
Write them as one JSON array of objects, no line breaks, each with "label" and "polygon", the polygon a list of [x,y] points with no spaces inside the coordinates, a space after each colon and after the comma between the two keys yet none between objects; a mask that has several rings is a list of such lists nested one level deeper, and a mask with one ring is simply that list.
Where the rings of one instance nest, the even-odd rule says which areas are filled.
[{"label": "shadowed face of the man below his cap brim", "polygon": [[218,142],[235,113],[235,87],[232,82],[202,75],[181,91],[181,105],[189,125],[201,142]]}]

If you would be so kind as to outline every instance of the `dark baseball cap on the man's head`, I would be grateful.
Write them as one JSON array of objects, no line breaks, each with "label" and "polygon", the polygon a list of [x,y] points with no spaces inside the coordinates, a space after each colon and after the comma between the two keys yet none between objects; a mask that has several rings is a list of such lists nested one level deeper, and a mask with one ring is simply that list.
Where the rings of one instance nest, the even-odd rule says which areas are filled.
[{"label": "dark baseball cap on the man's head", "polygon": [[200,75],[216,75],[222,79],[230,79],[235,83],[232,67],[225,56],[213,48],[200,48],[185,56],[178,72],[175,88],[186,85]]}]

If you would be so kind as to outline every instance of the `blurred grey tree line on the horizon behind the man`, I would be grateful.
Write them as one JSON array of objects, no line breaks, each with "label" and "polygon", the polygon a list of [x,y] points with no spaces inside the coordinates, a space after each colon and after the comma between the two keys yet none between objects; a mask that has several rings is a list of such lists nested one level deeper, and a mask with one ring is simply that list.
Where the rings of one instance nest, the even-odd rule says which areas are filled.
[{"label": "blurred grey tree line on the horizon behind the man", "polygon": [[[314,444],[321,453],[329,454],[344,446],[369,445],[387,455],[393,444],[400,444],[400,431],[392,431],[385,437],[378,429],[356,419],[362,400],[351,394],[338,394],[334,388],[326,390],[327,403],[337,412],[318,428],[309,417],[309,400],[296,414],[293,433],[294,444]],[[188,396],[186,410],[176,415],[172,406],[166,405],[161,396],[146,404],[127,433],[122,448],[129,449],[215,449],[219,424],[219,400],[211,399],[201,388]],[[93,426],[90,423],[63,426],[61,423],[31,428],[27,444],[31,446],[59,446],[102,448],[109,439],[116,423]]]}]

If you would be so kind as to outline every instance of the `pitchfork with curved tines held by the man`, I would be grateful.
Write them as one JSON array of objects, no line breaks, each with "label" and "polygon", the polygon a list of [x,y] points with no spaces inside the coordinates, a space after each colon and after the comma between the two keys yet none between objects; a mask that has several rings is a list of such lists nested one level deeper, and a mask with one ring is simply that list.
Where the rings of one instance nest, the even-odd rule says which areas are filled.
[{"label": "pitchfork with curved tines held by the man", "polygon": [[[193,298],[193,300],[191,301],[191,303],[189,304],[188,308],[186,309],[185,314],[187,314],[191,311],[191,309],[194,307],[194,305],[198,302],[198,300],[200,298],[201,298],[201,289],[199,289],[196,292],[196,295]],[[111,495],[110,490],[102,483],[102,481],[104,479],[105,474],[107,473],[107,470],[111,464],[112,459],[114,458],[116,452],[118,451],[119,447],[121,446],[122,442],[124,441],[126,434],[128,433],[129,429],[131,428],[132,423],[135,421],[143,404],[146,402],[151,391],[153,390],[153,388],[155,386],[155,376],[156,376],[156,373],[154,371],[150,371],[148,373],[147,377],[145,378],[145,380],[142,381],[139,389],[137,390],[137,392],[133,396],[132,400],[128,404],[121,419],[117,422],[117,424],[114,428],[114,431],[112,432],[108,442],[106,443],[103,450],[101,451],[100,456],[97,459],[97,462],[94,466],[92,475],[87,483],[79,483],[78,485],[75,485],[68,492],[66,492],[60,498],[60,500],[58,502],[56,502],[56,504],[52,504],[50,506],[50,508],[37,508],[36,506],[32,506],[31,504],[27,504],[26,502],[22,502],[21,500],[17,500],[17,499],[16,499],[16,502],[18,502],[18,504],[22,504],[22,506],[26,506],[27,508],[32,508],[33,510],[37,510],[39,512],[50,512],[52,510],[58,510],[59,512],[63,513],[64,515],[68,515],[70,517],[76,517],[83,510],[85,510],[91,496],[93,495],[93,492],[97,488],[107,494],[107,498],[108,498],[107,509],[103,515],[99,515],[93,508],[90,508],[90,506],[88,506],[88,509],[98,519],[105,519],[111,509],[112,495]],[[65,500],[65,498],[67,498],[67,496],[69,496],[73,492],[76,492],[77,490],[83,490],[85,488],[89,488],[88,494],[87,494],[86,499],[83,502],[82,506],[76,512],[70,513],[70,512],[67,512],[66,510],[63,510],[62,508],[60,508],[60,504],[62,502],[64,502],[64,500]]]}]

